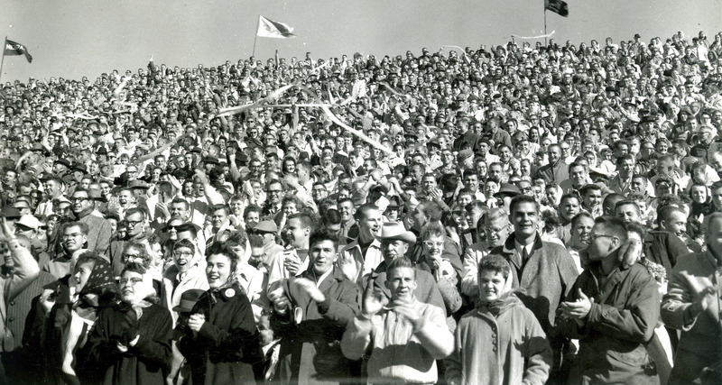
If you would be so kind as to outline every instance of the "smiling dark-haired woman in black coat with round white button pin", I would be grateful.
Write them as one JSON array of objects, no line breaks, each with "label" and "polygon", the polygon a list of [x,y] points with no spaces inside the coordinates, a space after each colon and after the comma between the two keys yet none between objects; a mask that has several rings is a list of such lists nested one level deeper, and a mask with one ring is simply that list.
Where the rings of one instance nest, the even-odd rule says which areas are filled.
[{"label": "smiling dark-haired woman in black coat with round white button pin", "polygon": [[255,383],[252,364],[262,355],[251,303],[234,279],[238,257],[224,243],[207,254],[210,289],[190,312],[180,353],[190,363],[194,384]]}]

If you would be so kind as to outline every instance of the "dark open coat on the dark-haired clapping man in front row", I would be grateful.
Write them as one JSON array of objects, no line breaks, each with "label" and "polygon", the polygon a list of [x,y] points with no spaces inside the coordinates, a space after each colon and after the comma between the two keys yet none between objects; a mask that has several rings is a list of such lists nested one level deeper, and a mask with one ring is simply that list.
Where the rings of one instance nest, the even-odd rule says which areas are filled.
[{"label": "dark open coat on the dark-haired clapping man in front row", "polygon": [[[312,269],[305,270],[301,277],[314,280]],[[316,303],[294,280],[282,282],[293,310],[271,318],[273,332],[282,338],[275,380],[302,384],[349,380],[349,361],[341,353],[340,341],[346,325],[359,311],[360,289],[334,269],[319,285],[326,300]],[[298,311],[301,323],[296,324],[292,316]]]}]

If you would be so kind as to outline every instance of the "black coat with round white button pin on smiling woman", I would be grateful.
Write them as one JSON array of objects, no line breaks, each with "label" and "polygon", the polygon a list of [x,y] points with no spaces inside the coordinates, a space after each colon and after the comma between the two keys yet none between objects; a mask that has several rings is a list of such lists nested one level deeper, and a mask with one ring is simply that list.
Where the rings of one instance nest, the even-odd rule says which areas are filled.
[{"label": "black coat with round white button pin on smiling woman", "polygon": [[190,314],[203,314],[198,334],[186,328],[178,349],[194,384],[255,383],[252,364],[262,359],[251,303],[236,284],[203,293]]}]

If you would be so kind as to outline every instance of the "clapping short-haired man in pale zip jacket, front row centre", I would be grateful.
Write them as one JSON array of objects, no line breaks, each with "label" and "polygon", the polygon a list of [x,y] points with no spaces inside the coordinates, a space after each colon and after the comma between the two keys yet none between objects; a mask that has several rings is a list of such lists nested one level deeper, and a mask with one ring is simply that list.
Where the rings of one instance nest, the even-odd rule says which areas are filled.
[{"label": "clapping short-haired man in pale zip jacket, front row centre", "polygon": [[341,351],[350,360],[368,351],[369,383],[435,383],[436,361],[453,348],[453,336],[443,309],[414,297],[416,270],[406,257],[387,266],[385,286],[391,292],[388,307],[383,294],[366,289],[360,315],[347,325]]}]

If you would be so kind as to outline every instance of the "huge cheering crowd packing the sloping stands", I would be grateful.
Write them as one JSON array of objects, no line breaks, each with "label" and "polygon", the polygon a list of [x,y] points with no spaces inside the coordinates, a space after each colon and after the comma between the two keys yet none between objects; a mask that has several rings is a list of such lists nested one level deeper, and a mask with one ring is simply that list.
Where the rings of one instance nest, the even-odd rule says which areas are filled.
[{"label": "huge cheering crowd packing the sloping stands", "polygon": [[5,83],[0,382],[720,383],[720,90],[722,32]]}]

